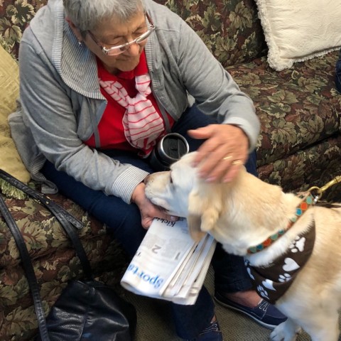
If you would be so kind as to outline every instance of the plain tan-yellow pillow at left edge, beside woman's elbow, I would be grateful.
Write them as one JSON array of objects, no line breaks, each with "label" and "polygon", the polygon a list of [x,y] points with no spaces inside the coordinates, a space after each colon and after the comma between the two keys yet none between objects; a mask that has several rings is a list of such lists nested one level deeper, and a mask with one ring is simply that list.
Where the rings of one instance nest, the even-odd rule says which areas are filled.
[{"label": "plain tan-yellow pillow at left edge, beside woman's elbow", "polygon": [[[30,175],[26,170],[11,139],[7,118],[16,109],[19,92],[18,64],[0,45],[0,168],[27,183]],[[6,192],[6,184],[1,182]]]}]

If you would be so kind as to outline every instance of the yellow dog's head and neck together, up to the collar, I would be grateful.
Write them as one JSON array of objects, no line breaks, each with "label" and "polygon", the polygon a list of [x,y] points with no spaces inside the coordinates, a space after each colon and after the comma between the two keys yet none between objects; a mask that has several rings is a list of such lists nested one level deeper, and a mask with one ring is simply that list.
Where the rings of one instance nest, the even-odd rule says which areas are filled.
[{"label": "yellow dog's head and neck together, up to the collar", "polygon": [[153,173],[145,181],[148,199],[171,215],[187,218],[193,239],[209,232],[226,251],[244,254],[286,224],[288,205],[279,186],[259,180],[245,167],[229,183],[208,183],[192,166],[194,158],[195,153],[188,153],[171,171]]}]

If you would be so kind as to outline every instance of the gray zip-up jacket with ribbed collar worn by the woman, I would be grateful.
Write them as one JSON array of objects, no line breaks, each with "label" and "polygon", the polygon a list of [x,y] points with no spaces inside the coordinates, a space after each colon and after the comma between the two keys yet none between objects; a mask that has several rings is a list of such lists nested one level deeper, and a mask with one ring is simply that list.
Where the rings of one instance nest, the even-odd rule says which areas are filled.
[{"label": "gray zip-up jacket with ribbed collar worn by the woman", "polygon": [[[156,31],[146,43],[153,95],[178,120],[188,94],[218,122],[240,126],[254,148],[259,121],[251,99],[207,50],[197,34],[165,6],[146,0]],[[65,21],[62,0],[49,0],[23,33],[20,52],[21,109],[9,123],[31,175],[47,158],[60,171],[107,195],[130,202],[146,172],[122,164],[82,141],[97,133],[106,100],[94,55]]]}]

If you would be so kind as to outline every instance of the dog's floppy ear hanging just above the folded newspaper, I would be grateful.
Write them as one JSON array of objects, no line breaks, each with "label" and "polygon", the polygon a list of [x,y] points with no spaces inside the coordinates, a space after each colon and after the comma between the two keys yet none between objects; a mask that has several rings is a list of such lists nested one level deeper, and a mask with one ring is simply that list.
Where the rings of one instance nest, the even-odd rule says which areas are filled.
[{"label": "dog's floppy ear hanging just above the folded newspaper", "polygon": [[206,232],[215,227],[220,217],[221,202],[212,197],[200,198],[200,193],[193,190],[188,197],[188,229],[190,236],[200,240]]}]

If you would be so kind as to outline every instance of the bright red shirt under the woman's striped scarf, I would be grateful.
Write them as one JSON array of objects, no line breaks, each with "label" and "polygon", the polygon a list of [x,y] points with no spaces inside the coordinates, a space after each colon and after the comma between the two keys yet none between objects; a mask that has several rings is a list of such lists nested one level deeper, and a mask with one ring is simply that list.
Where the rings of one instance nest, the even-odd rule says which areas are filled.
[{"label": "bright red shirt under the woman's striped scarf", "polygon": [[[117,75],[112,75],[107,70],[105,70],[102,62],[97,59],[97,70],[98,77],[104,81],[117,81],[121,83],[128,92],[130,97],[135,97],[137,90],[135,88],[135,76],[145,75],[148,72],[148,66],[146,62],[145,53],[141,53],[139,65],[131,71],[122,71]],[[99,141],[100,148],[103,149],[120,149],[125,151],[137,151],[136,148],[131,146],[128,141],[126,141],[126,136],[124,135],[124,127],[122,124],[122,119],[126,108],[122,107],[117,101],[115,101],[105,90],[101,87],[102,95],[107,99],[107,107],[104,110],[101,121],[98,124]],[[156,112],[163,119],[160,109],[156,99],[153,94],[149,94],[147,97],[156,109]],[[168,115],[168,120],[171,126],[173,126],[174,120]],[[164,119],[163,119],[164,121]],[[95,148],[94,134],[85,141],[87,146]]]}]

